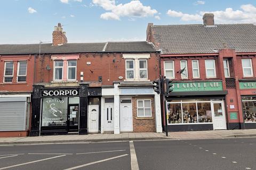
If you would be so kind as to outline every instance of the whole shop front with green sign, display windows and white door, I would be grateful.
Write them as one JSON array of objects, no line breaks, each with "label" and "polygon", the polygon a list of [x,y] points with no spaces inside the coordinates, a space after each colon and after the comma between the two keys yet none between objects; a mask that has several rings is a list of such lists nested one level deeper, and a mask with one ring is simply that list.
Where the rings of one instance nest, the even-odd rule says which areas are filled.
[{"label": "whole shop front with green sign, display windows and white door", "polygon": [[167,97],[169,131],[227,129],[222,82],[175,82]]}]

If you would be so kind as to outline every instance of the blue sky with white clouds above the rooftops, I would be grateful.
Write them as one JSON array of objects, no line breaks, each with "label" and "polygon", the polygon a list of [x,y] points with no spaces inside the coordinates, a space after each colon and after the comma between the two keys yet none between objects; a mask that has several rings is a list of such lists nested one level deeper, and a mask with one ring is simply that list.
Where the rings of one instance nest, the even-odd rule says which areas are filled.
[{"label": "blue sky with white clouds above the rooftops", "polygon": [[69,43],[141,41],[149,22],[202,24],[205,12],[215,23],[256,23],[255,0],[1,0],[0,44],[52,41],[58,22]]}]

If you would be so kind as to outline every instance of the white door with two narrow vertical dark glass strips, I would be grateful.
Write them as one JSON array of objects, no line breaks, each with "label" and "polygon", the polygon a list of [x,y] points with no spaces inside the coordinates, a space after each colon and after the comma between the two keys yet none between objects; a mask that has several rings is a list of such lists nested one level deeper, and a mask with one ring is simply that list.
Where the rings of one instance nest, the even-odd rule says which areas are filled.
[{"label": "white door with two narrow vertical dark glass strips", "polygon": [[114,104],[105,104],[105,131],[114,131]]}]

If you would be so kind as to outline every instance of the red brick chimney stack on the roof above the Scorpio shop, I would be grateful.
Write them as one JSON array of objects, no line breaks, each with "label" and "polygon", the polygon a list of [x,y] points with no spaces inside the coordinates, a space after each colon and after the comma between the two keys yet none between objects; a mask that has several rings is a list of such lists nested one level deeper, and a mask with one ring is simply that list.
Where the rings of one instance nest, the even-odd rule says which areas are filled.
[{"label": "red brick chimney stack on the roof above the Scorpio shop", "polygon": [[66,43],[68,43],[66,32],[63,32],[63,28],[61,28],[61,23],[58,23],[58,26],[55,26],[54,31],[52,32],[52,45],[60,46]]}]

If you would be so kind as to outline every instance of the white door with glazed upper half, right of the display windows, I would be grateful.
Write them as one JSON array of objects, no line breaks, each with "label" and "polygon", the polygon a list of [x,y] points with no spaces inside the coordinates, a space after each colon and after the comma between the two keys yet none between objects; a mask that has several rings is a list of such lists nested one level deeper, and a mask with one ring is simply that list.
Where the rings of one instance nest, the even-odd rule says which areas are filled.
[{"label": "white door with glazed upper half, right of the display windows", "polygon": [[223,101],[214,101],[213,108],[213,130],[227,129],[226,114]]}]

